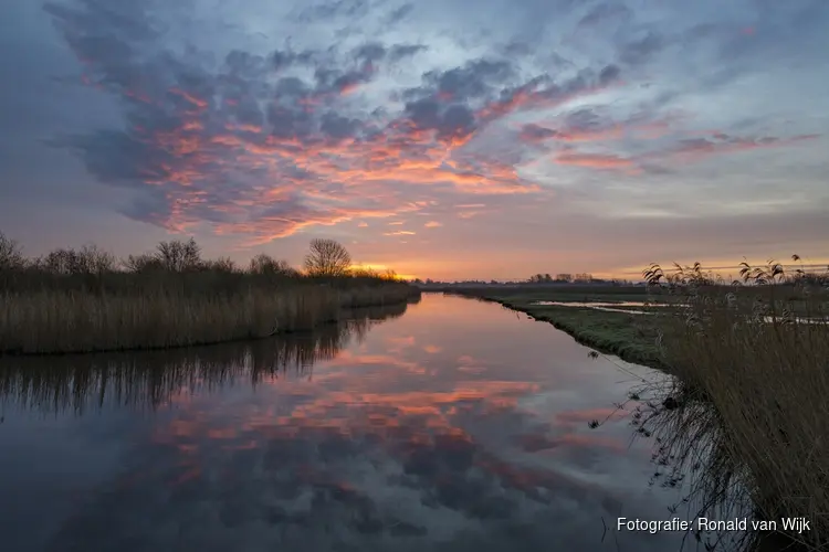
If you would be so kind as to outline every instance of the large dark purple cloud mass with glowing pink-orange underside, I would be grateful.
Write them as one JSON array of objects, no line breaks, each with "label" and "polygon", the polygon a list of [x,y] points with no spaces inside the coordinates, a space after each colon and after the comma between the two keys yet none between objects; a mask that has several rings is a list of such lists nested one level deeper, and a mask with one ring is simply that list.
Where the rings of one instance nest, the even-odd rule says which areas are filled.
[{"label": "large dark purple cloud mass with glowing pink-orange underside", "polygon": [[[343,9],[332,6],[314,17]],[[465,104],[422,98],[379,120],[349,109],[344,97],[372,83],[379,63],[423,46],[366,43],[347,56],[351,66],[337,66],[332,51],[282,49],[261,56],[233,50],[211,71],[198,55],[139,55],[153,38],[146,13],[133,14],[133,28],[141,30],[127,34],[134,44],[114,38],[99,44],[99,29],[117,30],[122,22],[94,4],[50,13],[67,40],[80,44],[85,82],[117,97],[129,121],[126,130],[62,136],[52,144],[76,151],[102,182],[140,191],[123,211],[130,217],[179,231],[208,224],[221,234],[254,234],[259,242],[419,209],[395,201],[393,189],[371,205],[360,192],[372,183],[495,194],[525,187],[500,167],[449,162],[451,150],[478,126]],[[313,68],[312,77],[285,73],[297,66]],[[428,72],[423,82],[462,99],[491,92],[484,82],[510,74],[508,64],[482,60]],[[479,84],[464,83],[473,75]]]}]

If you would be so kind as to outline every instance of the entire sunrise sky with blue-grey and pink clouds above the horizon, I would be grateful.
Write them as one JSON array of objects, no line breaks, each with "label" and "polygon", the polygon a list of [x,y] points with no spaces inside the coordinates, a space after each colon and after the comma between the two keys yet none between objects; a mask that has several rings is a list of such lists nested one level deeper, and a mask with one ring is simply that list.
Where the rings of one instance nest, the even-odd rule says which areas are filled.
[{"label": "entire sunrise sky with blue-grey and pink clouds above the horizon", "polygon": [[0,231],[434,279],[829,258],[825,0],[4,0]]}]

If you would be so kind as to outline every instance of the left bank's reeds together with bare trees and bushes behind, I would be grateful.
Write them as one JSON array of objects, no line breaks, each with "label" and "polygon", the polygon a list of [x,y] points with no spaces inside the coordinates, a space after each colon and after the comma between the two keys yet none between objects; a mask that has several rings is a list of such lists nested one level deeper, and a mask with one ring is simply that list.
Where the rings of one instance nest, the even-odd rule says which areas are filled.
[{"label": "left bank's reeds together with bare trees and bushes behind", "polygon": [[0,353],[156,349],[311,330],[344,308],[405,302],[393,273],[315,240],[302,270],[267,255],[204,259],[193,241],[116,259],[95,246],[27,258],[0,234]]}]

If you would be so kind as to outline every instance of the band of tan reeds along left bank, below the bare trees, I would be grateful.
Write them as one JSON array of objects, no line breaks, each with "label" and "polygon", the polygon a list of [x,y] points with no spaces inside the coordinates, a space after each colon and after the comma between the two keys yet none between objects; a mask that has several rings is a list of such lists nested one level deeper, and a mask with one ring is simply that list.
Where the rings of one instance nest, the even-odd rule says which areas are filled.
[{"label": "band of tan reeds along left bank, below the bare trees", "polygon": [[343,309],[405,304],[418,294],[393,282],[293,284],[217,295],[7,293],[0,299],[0,353],[165,349],[256,339],[312,330],[339,320]]}]

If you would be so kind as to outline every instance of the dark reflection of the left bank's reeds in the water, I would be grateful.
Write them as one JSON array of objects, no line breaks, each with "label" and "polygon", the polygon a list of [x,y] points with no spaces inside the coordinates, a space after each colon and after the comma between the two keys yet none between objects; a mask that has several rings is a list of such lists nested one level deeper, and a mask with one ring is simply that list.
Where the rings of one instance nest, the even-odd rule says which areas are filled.
[{"label": "dark reflection of the left bank's reeds in the water", "polygon": [[250,378],[308,373],[349,340],[361,342],[371,327],[406,312],[406,304],[350,309],[344,322],[314,332],[193,349],[9,358],[0,363],[0,400],[24,408],[82,414],[91,405],[145,405],[170,401],[182,390],[211,391]]}]

